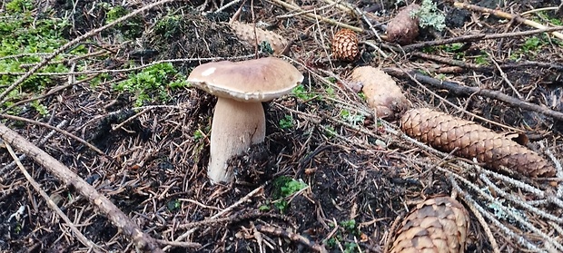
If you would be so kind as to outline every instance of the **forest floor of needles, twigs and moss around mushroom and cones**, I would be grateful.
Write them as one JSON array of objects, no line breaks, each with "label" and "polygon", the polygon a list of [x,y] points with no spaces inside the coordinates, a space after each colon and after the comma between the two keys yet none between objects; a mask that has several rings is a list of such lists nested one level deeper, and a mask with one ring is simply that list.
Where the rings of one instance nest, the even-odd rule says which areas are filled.
[{"label": "forest floor of needles, twigs and moss around mushroom and cones", "polygon": [[[384,252],[400,219],[440,195],[468,209],[466,252],[563,251],[563,36],[519,34],[538,29],[522,19],[561,27],[560,1],[467,1],[513,19],[434,1],[446,26],[422,28],[402,47],[381,36],[404,1],[119,2],[0,6],[0,117],[33,143],[18,149],[0,131],[1,252],[133,252],[112,219],[122,212],[125,228],[167,252]],[[278,57],[305,78],[264,103],[266,141],[231,161],[234,183],[213,185],[216,98],[185,79],[201,63],[268,55],[232,32],[233,16],[291,41]],[[342,26],[359,37],[353,62],[331,57]],[[351,71],[368,65],[392,75],[412,107],[527,136],[557,177],[498,174],[410,139],[354,90]],[[23,157],[31,148],[117,209],[104,212],[94,195]]]}]

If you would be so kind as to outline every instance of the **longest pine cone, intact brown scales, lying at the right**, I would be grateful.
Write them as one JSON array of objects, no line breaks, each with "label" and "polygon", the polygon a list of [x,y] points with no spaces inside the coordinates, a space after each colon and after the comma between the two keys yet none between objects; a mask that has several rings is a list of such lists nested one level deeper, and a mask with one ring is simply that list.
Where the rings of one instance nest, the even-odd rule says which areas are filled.
[{"label": "longest pine cone, intact brown scales, lying at the right", "polygon": [[553,177],[555,168],[534,151],[475,122],[429,108],[412,109],[401,118],[401,130],[412,138],[460,157],[484,162],[494,170],[505,166],[528,177]]}]

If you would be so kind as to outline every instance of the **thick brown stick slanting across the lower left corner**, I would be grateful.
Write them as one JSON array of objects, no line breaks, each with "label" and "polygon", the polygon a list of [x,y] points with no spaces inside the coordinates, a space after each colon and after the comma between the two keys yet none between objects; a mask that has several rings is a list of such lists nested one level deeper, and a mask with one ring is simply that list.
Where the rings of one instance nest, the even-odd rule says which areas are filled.
[{"label": "thick brown stick slanting across the lower left corner", "polygon": [[56,178],[62,180],[64,184],[72,185],[76,191],[104,213],[114,226],[123,232],[123,235],[132,239],[138,250],[142,252],[163,252],[154,238],[144,234],[143,230],[139,229],[133,220],[118,209],[110,199],[96,191],[93,186],[78,177],[63,163],[55,160],[51,155],[37,148],[33,143],[25,140],[23,136],[4,124],[0,124],[0,137],[18,151],[24,152],[27,157],[33,158],[35,162],[54,174]]}]

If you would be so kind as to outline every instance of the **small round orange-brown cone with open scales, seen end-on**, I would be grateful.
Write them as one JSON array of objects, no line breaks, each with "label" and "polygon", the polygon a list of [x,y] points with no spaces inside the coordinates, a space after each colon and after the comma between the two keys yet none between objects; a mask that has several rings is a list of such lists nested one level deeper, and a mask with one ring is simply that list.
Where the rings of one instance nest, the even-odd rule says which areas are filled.
[{"label": "small round orange-brown cone with open scales, seen end-on", "polygon": [[353,62],[358,59],[358,36],[350,29],[342,29],[332,38],[332,57],[339,61]]}]

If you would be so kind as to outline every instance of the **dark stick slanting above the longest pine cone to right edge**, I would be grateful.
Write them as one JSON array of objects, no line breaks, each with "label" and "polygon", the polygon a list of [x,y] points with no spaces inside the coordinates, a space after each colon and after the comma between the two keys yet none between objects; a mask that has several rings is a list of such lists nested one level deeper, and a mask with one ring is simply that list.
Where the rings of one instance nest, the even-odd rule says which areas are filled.
[{"label": "dark stick slanting above the longest pine cone to right edge", "polygon": [[407,77],[407,78],[414,78],[417,81],[419,81],[420,83],[428,83],[432,86],[438,87],[440,89],[447,89],[450,92],[456,93],[456,94],[463,94],[463,95],[472,95],[472,94],[476,94],[476,95],[480,95],[480,96],[484,96],[484,97],[489,97],[492,99],[496,99],[502,102],[506,102],[509,103],[512,106],[516,106],[525,110],[529,110],[529,111],[533,111],[533,112],[539,112],[542,113],[546,116],[552,117],[558,121],[563,121],[563,113],[562,112],[556,112],[553,110],[550,110],[546,107],[542,107],[539,106],[538,104],[535,103],[531,103],[531,102],[524,102],[521,101],[517,98],[511,97],[507,94],[504,94],[502,92],[497,92],[497,91],[491,91],[491,90],[487,90],[487,89],[481,89],[478,87],[469,87],[469,86],[464,86],[464,85],[459,85],[458,83],[452,83],[452,82],[447,82],[447,81],[441,81],[435,78],[431,78],[430,76],[421,74],[421,73],[417,73],[417,72],[403,72],[402,70],[398,69],[398,68],[384,68],[383,72],[385,73],[389,73],[392,76],[395,77]]}]

